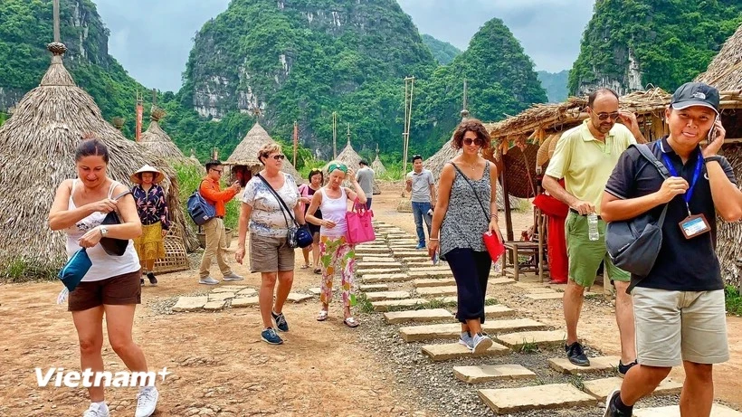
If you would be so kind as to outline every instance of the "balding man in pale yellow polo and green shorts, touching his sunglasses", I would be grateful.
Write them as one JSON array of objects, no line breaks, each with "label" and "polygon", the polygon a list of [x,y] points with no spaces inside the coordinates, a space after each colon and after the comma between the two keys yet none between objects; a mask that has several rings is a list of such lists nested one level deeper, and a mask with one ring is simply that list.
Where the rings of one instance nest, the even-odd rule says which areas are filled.
[{"label": "balding man in pale yellow polo and green shorts, touching his sunglasses", "polygon": [[[557,142],[548,163],[543,185],[549,194],[569,205],[566,218],[566,247],[569,257],[569,281],[564,296],[566,321],[566,355],[578,366],[589,366],[582,344],[577,339],[577,321],[582,310],[585,288],[595,282],[604,262],[604,273],[616,288],[615,314],[621,336],[621,360],[618,373],[623,376],[635,365],[633,306],[626,294],[631,277],[616,268],[605,250],[605,223],[598,216],[605,184],[618,163],[618,158],[637,140],[645,142],[636,116],[619,112],[618,94],[614,90],[595,90],[587,99],[585,122],[567,130]],[[623,125],[616,124],[621,118]],[[624,126],[625,125],[625,126]],[[627,128],[628,126],[628,128]],[[566,188],[557,181],[565,179]],[[595,222],[591,231],[590,222]],[[596,230],[595,230],[596,229]]]}]

